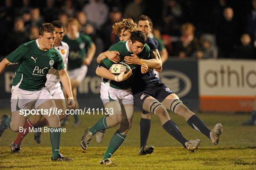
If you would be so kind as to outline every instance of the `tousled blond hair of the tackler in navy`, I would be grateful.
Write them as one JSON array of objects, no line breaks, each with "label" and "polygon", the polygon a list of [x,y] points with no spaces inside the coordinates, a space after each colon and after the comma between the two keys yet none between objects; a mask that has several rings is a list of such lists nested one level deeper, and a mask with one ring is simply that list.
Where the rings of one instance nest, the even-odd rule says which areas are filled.
[{"label": "tousled blond hair of the tackler in navy", "polygon": [[120,35],[122,29],[129,30],[132,33],[137,30],[137,24],[131,18],[123,18],[121,21],[112,25],[112,32],[115,35]]}]

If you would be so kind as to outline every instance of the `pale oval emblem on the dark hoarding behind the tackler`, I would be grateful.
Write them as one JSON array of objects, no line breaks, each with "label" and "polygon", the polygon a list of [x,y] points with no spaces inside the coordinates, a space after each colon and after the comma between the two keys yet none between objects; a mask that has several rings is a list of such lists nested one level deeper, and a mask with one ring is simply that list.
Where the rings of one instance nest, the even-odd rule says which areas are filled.
[{"label": "pale oval emblem on the dark hoarding behind the tackler", "polygon": [[189,77],[175,70],[160,72],[160,80],[168,87],[166,91],[172,90],[179,97],[186,96],[192,87]]}]

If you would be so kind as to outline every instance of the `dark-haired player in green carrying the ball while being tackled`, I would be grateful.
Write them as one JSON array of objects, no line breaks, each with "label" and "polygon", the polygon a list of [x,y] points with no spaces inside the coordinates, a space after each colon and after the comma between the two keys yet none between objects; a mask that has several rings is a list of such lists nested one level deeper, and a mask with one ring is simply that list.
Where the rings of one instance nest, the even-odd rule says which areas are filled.
[{"label": "dark-haired player in green carrying the ball while being tackled", "polygon": [[[146,37],[143,32],[134,31],[128,41],[120,41],[112,45],[109,51],[118,51],[119,57],[123,61],[125,56],[130,56],[131,54],[136,54],[140,58],[148,59],[150,49],[148,45],[146,45]],[[109,71],[113,64],[114,63],[109,59],[104,59],[96,69],[96,74],[104,77],[101,82],[101,100],[105,109],[110,111],[109,116],[102,117],[94,126],[88,127],[81,140],[81,147],[85,150],[92,136],[99,130],[105,130],[120,124],[119,129],[111,138],[109,147],[101,160],[101,164],[103,165],[115,165],[110,157],[123,143],[131,127],[133,116],[131,83],[134,78],[134,72],[136,69],[140,69],[141,73],[146,73],[147,71],[146,64],[142,64],[141,67],[129,64],[133,72],[129,70],[126,74],[122,72],[122,75],[114,75]]]}]

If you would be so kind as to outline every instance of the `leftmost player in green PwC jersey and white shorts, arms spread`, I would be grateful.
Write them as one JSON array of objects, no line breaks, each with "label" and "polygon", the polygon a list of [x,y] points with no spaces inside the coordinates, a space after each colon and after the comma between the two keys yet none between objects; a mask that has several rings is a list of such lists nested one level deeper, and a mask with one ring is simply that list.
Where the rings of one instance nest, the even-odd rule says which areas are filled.
[{"label": "leftmost player in green PwC jersey and white shorts, arms spread", "polygon": [[[11,111],[12,117],[3,115],[0,120],[0,136],[5,129],[21,132],[27,116],[25,110],[33,108],[42,110],[50,126],[50,140],[52,144],[52,161],[72,161],[59,153],[60,128],[59,116],[50,114],[56,108],[55,102],[48,89],[45,87],[46,74],[53,67],[68,94],[68,106],[75,107],[71,83],[64,68],[61,55],[53,48],[55,29],[50,23],[45,23],[39,29],[39,38],[20,45],[0,63],[0,73],[12,63],[18,63],[15,77],[12,82]],[[34,111],[36,111],[33,109]],[[32,112],[31,112],[32,113]],[[38,115],[38,120],[42,115]]]}]

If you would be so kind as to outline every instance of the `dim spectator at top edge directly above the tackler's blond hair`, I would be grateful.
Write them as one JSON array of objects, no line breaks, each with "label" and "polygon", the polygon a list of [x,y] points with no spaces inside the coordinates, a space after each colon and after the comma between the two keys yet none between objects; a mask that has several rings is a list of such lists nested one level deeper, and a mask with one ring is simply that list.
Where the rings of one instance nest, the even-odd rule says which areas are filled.
[{"label": "dim spectator at top edge directly above the tackler's blond hair", "polygon": [[143,0],[133,0],[124,11],[124,18],[132,18],[135,22],[137,22],[139,16],[141,16],[144,12],[143,9]]}]

